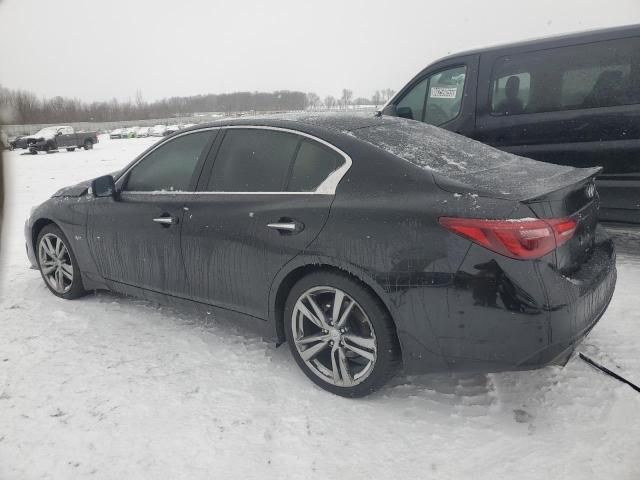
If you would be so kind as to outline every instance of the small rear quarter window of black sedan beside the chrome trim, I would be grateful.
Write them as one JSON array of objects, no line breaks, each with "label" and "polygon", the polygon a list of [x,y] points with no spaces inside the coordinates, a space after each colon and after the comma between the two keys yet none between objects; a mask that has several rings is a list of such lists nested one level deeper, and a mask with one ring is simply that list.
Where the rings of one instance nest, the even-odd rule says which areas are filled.
[{"label": "small rear quarter window of black sedan beside the chrome trim", "polygon": [[296,155],[287,190],[312,192],[343,162],[344,159],[337,152],[304,140]]}]

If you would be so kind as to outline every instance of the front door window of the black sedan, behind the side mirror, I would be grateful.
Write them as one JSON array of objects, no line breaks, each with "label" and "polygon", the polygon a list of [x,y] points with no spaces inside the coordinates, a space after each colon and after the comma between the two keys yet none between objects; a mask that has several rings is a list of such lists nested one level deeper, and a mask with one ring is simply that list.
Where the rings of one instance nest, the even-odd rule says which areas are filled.
[{"label": "front door window of the black sedan, behind the side mirror", "polygon": [[125,191],[192,191],[191,180],[212,132],[195,132],[161,145],[129,174]]}]

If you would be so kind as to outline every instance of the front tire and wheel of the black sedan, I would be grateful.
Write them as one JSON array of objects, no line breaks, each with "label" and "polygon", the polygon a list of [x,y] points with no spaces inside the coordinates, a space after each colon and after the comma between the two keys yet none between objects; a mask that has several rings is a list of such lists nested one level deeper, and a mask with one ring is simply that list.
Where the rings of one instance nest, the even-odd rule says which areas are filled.
[{"label": "front tire and wheel of the black sedan", "polygon": [[[58,242],[62,242],[64,250],[58,247]],[[69,240],[58,226],[50,223],[40,230],[35,251],[40,275],[51,293],[65,300],[86,295],[76,256]],[[59,252],[58,255],[55,254],[56,251]],[[46,272],[47,267],[54,268],[53,273]]]}]

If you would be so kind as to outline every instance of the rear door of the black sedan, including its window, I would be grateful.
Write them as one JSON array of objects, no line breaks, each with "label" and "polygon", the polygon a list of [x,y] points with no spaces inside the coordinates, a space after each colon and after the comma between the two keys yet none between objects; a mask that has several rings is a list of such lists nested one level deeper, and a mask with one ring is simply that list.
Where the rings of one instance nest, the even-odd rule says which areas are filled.
[{"label": "rear door of the black sedan, including its window", "polygon": [[185,213],[191,297],[266,318],[276,273],[322,229],[351,160],[282,129],[234,127],[220,136]]}]

